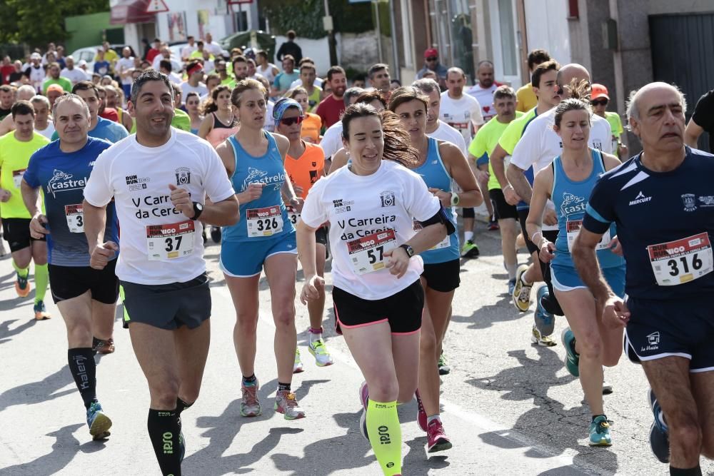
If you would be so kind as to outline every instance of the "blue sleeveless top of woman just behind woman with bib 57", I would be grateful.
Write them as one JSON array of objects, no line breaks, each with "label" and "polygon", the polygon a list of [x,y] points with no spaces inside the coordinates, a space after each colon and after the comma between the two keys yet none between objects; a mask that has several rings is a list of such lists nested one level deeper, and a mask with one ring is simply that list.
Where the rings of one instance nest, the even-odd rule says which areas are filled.
[{"label": "blue sleeveless top of woman just behind woman with bib 57", "polygon": [[[451,191],[451,176],[446,171],[441,155],[439,154],[439,145],[435,138],[429,138],[429,146],[427,149],[426,161],[418,168],[413,168],[412,171],[418,173],[426,186],[429,188],[441,188],[445,192]],[[456,213],[451,209],[453,215],[453,223],[456,223]],[[426,250],[420,254],[426,264],[446,263],[446,261],[458,260],[460,257],[458,247],[458,233],[452,233],[444,238],[441,243],[438,243],[435,248]]]}]

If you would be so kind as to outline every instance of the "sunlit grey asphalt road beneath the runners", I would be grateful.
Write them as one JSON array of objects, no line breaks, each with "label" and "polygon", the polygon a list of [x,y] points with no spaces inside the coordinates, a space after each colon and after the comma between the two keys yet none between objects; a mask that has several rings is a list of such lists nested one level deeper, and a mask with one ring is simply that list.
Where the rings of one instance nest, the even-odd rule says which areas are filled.
[{"label": "sunlit grey asphalt road beneath the runners", "polygon": [[[402,405],[404,474],[668,474],[650,453],[652,416],[642,370],[626,358],[606,370],[615,389],[605,397],[614,445],[588,447],[588,407],[580,383],[563,367],[562,345],[531,345],[533,312],[517,313],[506,295],[498,232],[481,231],[477,238],[481,258],[462,265],[445,345],[452,371],[442,380],[442,415],[454,447],[427,455],[416,405]],[[307,310],[297,304],[306,371],[295,376],[293,390],[308,417],[288,422],[274,414],[277,382],[265,280],[256,369],[265,411],[253,419],[239,415],[235,313],[218,271],[218,250],[213,244],[206,250],[213,280],[211,351],[201,396],[182,415],[184,474],[381,474],[358,432],[361,374],[333,333],[331,310],[325,335],[336,365],[318,368],[306,350]],[[97,368],[99,397],[114,427],[109,440],[93,442],[67,369],[59,311],[48,303],[54,318],[36,322],[31,298],[17,298],[13,280],[10,260],[0,260],[0,475],[159,475],[146,435],[149,392],[121,323],[116,322],[116,353],[102,357]],[[555,335],[564,325],[558,320]],[[714,464],[703,462],[703,472],[714,475]]]}]

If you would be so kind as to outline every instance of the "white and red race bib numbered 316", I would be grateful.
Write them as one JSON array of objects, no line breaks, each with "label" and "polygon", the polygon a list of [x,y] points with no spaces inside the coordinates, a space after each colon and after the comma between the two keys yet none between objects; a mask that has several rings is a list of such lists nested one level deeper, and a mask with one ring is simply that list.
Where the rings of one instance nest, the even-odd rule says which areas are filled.
[{"label": "white and red race bib numbered 316", "polygon": [[660,286],[688,283],[711,273],[714,268],[712,248],[707,233],[649,245],[647,252],[650,255],[655,280]]}]

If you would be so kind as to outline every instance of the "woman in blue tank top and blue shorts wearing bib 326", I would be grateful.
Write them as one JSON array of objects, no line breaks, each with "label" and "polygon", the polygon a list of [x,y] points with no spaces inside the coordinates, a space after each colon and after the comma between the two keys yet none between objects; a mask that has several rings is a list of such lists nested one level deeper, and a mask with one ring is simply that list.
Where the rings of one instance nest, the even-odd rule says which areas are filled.
[{"label": "woman in blue tank top and blue shorts wearing bib 326", "polygon": [[290,143],[278,134],[263,131],[266,90],[254,79],[239,81],[231,94],[233,112],[240,119],[238,132],[216,151],[226,166],[241,203],[241,218],[223,228],[221,270],[236,306],[233,341],[243,373],[241,415],[261,414],[258,401],[256,328],[258,283],[265,270],[271,290],[271,308],[276,325],[278,393],[275,410],[286,420],[305,416],[290,385],[296,348],[295,283],[298,265],[295,229],[288,220],[283,195],[298,211],[302,200],[286,180],[283,161]]}]

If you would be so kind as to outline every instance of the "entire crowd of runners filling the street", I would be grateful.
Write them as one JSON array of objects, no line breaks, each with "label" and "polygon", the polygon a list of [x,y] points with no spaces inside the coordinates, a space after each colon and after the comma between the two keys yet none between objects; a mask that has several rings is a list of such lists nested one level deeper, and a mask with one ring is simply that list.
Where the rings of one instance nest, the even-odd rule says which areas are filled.
[{"label": "entire crowd of runners filling the street", "polygon": [[355,425],[385,475],[402,474],[401,403],[416,398],[428,452],[450,449],[442,343],[483,226],[501,234],[513,312],[535,301],[532,343],[557,345],[555,316],[568,322],[560,342],[588,402],[590,445],[613,444],[603,368],[624,352],[650,384],[655,457],[672,475],[701,475],[700,457],[714,458],[714,157],[695,147],[714,132],[714,91],[689,123],[676,86],[630,93],[625,122],[642,147],[630,157],[608,89],[547,51],[529,54],[531,83],[518,91],[494,80],[490,61],[468,78],[436,49],[401,86],[386,64],[318,78],[289,37],[280,68],[266,51],[221,51],[210,38],[191,38],[181,57],[158,39],[144,57],[106,45],[93,76],[73,73],[54,45],[26,67],[5,61],[0,217],[15,290],[26,298],[34,287],[36,320],[51,318],[51,290],[91,437],[112,426],[94,356],[115,350],[119,302],[149,385],[156,460],[181,474],[181,412],[208,354],[211,236],[236,309],[243,417],[263,411],[254,367],[269,352],[256,348],[265,273],[276,412],[310,415],[291,389],[303,371],[297,297],[320,367],[333,363],[322,335],[333,307],[329,325],[364,377]]}]

